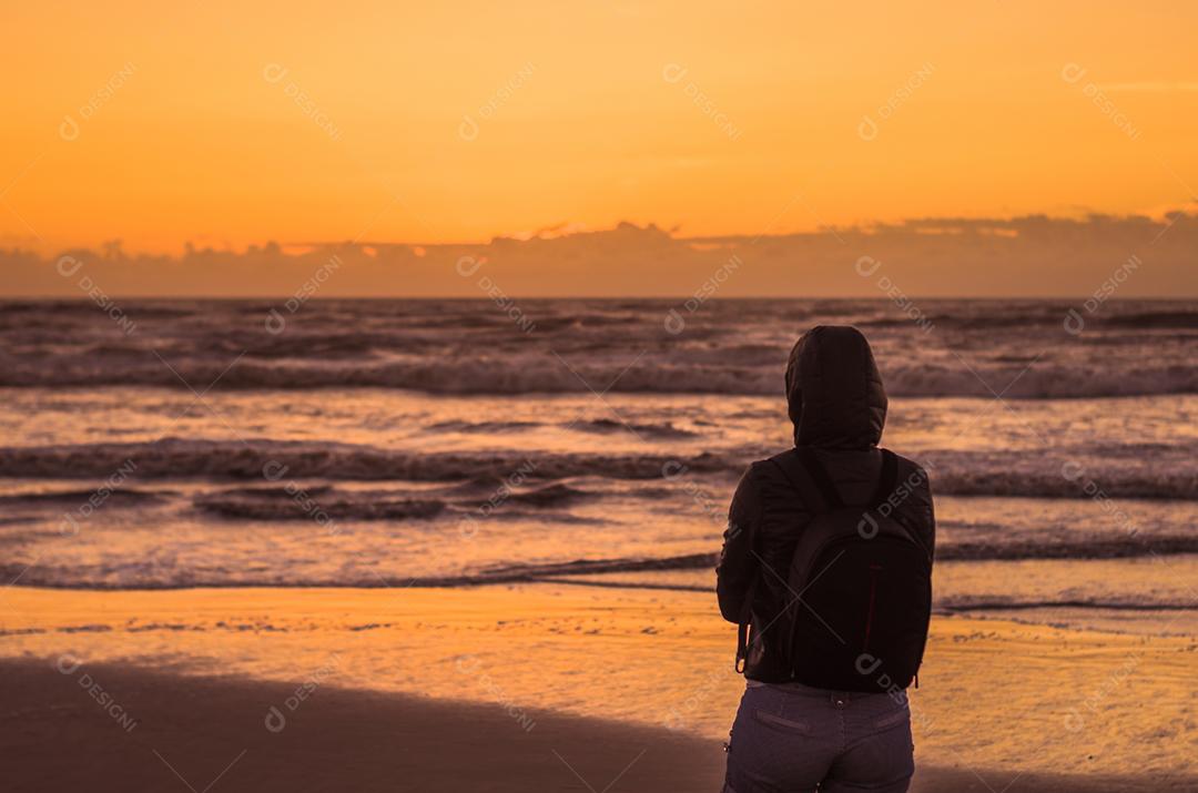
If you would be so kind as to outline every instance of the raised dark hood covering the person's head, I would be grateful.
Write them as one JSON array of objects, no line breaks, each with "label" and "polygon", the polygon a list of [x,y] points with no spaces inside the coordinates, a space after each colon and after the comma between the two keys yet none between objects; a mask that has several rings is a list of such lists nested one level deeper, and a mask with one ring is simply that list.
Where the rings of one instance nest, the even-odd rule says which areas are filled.
[{"label": "raised dark hood covering the person's head", "polygon": [[818,325],[803,334],[786,367],[786,401],[795,446],[866,449],[882,438],[887,392],[854,327]]}]

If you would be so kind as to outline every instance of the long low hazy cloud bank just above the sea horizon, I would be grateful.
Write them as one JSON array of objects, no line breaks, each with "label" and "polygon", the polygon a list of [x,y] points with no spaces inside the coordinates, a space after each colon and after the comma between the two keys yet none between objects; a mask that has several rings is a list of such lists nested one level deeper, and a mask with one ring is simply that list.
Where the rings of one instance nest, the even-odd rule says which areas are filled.
[{"label": "long low hazy cloud bank just above the sea horizon", "polygon": [[[878,297],[888,289],[1076,297],[1091,295],[1132,256],[1142,264],[1120,297],[1198,296],[1198,214],[1187,212],[913,218],[761,237],[682,237],[622,223],[484,244],[268,243],[244,252],[188,247],[179,256],[107,246],[61,255],[81,264],[62,268],[59,256],[0,249],[0,296],[83,297],[86,286],[113,297],[673,297],[695,295],[720,273],[720,297]],[[881,262],[869,277],[855,266],[863,256]]]}]

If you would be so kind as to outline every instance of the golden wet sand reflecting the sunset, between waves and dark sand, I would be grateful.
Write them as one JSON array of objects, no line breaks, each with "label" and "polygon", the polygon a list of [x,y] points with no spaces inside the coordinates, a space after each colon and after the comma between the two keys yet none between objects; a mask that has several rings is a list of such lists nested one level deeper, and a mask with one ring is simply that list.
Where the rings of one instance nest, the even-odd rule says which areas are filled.
[{"label": "golden wet sand reflecting the sunset, between waves and dark sand", "polygon": [[[192,702],[198,695],[188,692],[208,685],[196,683],[205,679],[276,692],[315,683],[305,713],[308,702],[334,690],[416,696],[437,707],[470,701],[516,732],[513,725],[527,716],[536,730],[559,719],[600,721],[697,741],[684,765],[702,765],[695,758],[707,750],[700,749],[714,746],[722,768],[719,745],[744,685],[731,664],[736,629],[720,621],[708,593],[549,583],[135,592],[17,586],[0,593],[0,662],[58,678],[63,676],[52,667],[60,662],[110,671],[114,682],[96,679],[117,694],[115,680],[127,676],[131,682],[120,685],[131,690],[143,678],[169,678],[146,694],[157,697],[151,704],[179,696]],[[1193,637],[936,616],[922,685],[910,692],[916,763],[939,769],[937,779],[957,774],[958,786],[943,789],[970,789],[960,787],[976,781],[970,769],[1006,773],[994,789],[1016,774],[1120,780],[1111,789],[1136,789],[1129,780],[1169,789],[1161,786],[1186,779],[1194,789],[1187,725],[1198,708],[1196,656]],[[19,683],[22,674],[0,683],[4,702],[24,698],[38,719],[53,722],[53,712]],[[470,720],[444,724],[447,736],[473,730]],[[381,718],[376,728],[393,730]],[[589,743],[580,738],[579,745]],[[715,780],[707,787],[718,788],[719,774]],[[1014,789],[1100,788],[1024,788],[1021,781]]]}]

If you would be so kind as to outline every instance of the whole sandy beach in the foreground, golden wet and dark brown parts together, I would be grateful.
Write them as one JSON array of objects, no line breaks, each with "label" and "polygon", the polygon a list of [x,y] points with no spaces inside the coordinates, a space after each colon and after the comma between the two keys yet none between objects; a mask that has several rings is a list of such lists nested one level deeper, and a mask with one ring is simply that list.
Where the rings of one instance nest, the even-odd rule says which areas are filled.
[{"label": "whole sandy beach in the foreground, golden wet and dark brown parts together", "polygon": [[[740,691],[701,593],[12,587],[0,606],[13,789],[186,791],[170,763],[199,792],[243,749],[213,791],[599,793],[628,764],[611,793],[718,789]],[[1191,637],[934,619],[913,789],[1198,789],[1196,671]]]}]

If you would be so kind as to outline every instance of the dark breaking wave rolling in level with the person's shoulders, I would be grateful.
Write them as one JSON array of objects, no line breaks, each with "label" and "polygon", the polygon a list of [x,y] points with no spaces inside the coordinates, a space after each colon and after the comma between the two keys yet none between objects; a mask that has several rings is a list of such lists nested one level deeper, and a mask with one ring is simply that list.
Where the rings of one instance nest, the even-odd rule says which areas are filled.
[{"label": "dark breaking wave rolling in level with the person's shoulders", "polygon": [[[612,480],[659,480],[677,485],[679,477],[719,474],[731,486],[751,453],[591,454],[496,449],[420,454],[329,442],[205,441],[163,438],[150,443],[83,443],[71,446],[0,447],[0,477],[104,479],[114,471],[132,471],[132,479],[226,478],[325,482],[385,479],[456,483],[470,495],[494,490],[519,474],[531,485],[574,477]],[[1126,455],[1028,455],[992,452],[928,452],[919,461],[939,495],[1022,496],[1043,498],[1193,500],[1198,470],[1186,448],[1157,449],[1156,465],[1131,465]],[[465,492],[464,491],[464,492]],[[71,501],[83,491],[61,496]],[[138,498],[138,495],[132,498]],[[147,496],[149,497],[149,496]],[[582,497],[565,489],[519,495],[565,503]]]}]

